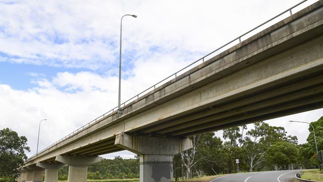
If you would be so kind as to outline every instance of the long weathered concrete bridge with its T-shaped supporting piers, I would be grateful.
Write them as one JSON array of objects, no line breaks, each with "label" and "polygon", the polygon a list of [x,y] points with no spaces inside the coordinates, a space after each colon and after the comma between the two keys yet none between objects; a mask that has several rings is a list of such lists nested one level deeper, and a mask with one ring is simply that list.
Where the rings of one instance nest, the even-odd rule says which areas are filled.
[{"label": "long weathered concrete bridge with its T-shaped supporting piers", "polygon": [[170,182],[190,136],[323,107],[323,0],[29,158],[20,181],[86,182],[99,155],[140,156],[141,182]]}]

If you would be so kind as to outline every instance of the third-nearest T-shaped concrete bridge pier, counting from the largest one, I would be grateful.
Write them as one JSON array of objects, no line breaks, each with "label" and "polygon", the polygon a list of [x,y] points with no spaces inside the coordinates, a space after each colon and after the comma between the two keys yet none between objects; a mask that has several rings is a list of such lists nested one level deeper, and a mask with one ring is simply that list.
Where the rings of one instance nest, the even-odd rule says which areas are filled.
[{"label": "third-nearest T-shaped concrete bridge pier, counting from the largest one", "polygon": [[67,165],[62,163],[42,163],[37,162],[36,166],[45,169],[45,182],[58,181],[58,169],[64,168]]}]

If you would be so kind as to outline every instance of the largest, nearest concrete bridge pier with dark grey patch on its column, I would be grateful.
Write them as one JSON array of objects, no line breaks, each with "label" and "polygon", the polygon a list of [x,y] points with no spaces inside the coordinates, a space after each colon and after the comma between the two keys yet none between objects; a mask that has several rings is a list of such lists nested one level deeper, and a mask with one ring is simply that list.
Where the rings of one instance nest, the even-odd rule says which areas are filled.
[{"label": "largest, nearest concrete bridge pier with dark grey patch on its column", "polygon": [[172,156],[192,148],[189,138],[161,138],[119,134],[115,145],[140,156],[140,182],[171,182]]}]

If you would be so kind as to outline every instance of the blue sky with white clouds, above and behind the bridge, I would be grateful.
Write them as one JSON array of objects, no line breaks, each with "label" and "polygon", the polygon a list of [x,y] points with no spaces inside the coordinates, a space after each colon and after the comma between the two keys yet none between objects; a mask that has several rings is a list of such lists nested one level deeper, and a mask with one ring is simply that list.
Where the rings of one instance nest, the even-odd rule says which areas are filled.
[{"label": "blue sky with white clouds, above and behind the bridge", "polygon": [[[300,1],[0,0],[0,129],[26,136],[31,156],[41,119],[39,150],[117,106],[124,14],[138,17],[123,19],[121,102]],[[288,121],[322,115],[317,109],[266,122],[305,143],[308,126]],[[115,156],[134,154],[103,157]]]}]

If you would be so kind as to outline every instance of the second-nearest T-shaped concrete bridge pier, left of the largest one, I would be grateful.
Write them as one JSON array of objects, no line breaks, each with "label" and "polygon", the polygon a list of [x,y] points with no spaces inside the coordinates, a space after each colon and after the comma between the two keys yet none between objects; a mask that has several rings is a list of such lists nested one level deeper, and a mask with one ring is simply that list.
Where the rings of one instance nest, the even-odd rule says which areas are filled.
[{"label": "second-nearest T-shaped concrete bridge pier, left of the largest one", "polygon": [[69,165],[68,182],[87,182],[87,166],[101,160],[96,156],[56,156],[57,162]]}]

